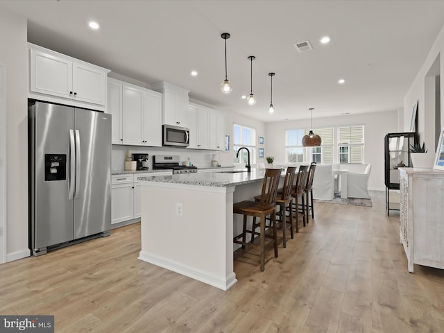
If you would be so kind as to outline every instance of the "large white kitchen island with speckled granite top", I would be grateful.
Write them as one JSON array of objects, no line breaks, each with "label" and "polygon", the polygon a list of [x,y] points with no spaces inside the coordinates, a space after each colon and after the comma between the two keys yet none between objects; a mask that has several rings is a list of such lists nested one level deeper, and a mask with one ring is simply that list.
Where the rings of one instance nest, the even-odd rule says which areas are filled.
[{"label": "large white kitchen island with speckled granite top", "polygon": [[139,259],[228,290],[237,282],[233,236],[242,228],[233,203],[260,194],[264,175],[253,169],[139,177]]}]

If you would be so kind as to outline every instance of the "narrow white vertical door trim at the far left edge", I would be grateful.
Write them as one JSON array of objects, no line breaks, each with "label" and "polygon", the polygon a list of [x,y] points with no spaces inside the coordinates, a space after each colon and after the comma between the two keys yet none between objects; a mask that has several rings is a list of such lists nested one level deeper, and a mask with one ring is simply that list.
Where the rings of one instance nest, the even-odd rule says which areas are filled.
[{"label": "narrow white vertical door trim at the far left edge", "polygon": [[6,67],[0,65],[0,264],[6,262]]}]

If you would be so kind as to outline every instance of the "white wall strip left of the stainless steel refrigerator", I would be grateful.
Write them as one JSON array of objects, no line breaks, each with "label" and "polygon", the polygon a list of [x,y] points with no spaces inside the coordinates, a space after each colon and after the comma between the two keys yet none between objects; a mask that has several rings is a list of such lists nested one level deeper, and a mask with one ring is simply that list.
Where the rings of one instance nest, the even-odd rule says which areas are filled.
[{"label": "white wall strip left of the stainless steel refrigerator", "polygon": [[6,260],[28,256],[28,49],[26,19],[0,10],[0,63],[6,67]]}]

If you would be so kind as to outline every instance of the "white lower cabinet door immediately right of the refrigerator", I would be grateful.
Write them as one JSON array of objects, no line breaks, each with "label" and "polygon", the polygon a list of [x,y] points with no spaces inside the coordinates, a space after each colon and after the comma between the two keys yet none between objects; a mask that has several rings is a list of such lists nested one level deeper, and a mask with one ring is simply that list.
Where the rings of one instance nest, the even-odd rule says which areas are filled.
[{"label": "white lower cabinet door immediately right of the refrigerator", "polygon": [[112,185],[111,197],[111,224],[133,219],[133,182]]}]

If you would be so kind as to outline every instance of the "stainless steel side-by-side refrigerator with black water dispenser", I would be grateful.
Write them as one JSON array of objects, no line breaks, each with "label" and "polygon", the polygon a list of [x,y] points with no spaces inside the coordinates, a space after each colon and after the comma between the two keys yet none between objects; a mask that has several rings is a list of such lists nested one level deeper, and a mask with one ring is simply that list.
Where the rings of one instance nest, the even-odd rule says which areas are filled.
[{"label": "stainless steel side-by-side refrigerator with black water dispenser", "polygon": [[28,110],[33,255],[111,226],[111,114],[35,102]]}]

